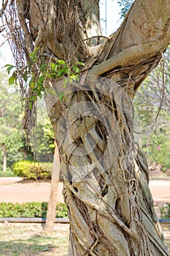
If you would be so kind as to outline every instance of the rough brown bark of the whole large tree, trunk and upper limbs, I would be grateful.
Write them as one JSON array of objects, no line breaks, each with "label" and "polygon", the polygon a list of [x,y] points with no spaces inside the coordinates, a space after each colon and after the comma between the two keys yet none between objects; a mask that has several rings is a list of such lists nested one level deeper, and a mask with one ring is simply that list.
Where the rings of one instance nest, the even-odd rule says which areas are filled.
[{"label": "rough brown bark of the whole large tree, trunk and upper limbs", "polygon": [[39,47],[52,61],[85,62],[79,83],[46,85],[69,211],[69,255],[169,255],[147,161],[134,142],[133,99],[170,42],[170,1],[136,0],[109,38],[101,36],[98,1],[17,4],[27,53]]}]

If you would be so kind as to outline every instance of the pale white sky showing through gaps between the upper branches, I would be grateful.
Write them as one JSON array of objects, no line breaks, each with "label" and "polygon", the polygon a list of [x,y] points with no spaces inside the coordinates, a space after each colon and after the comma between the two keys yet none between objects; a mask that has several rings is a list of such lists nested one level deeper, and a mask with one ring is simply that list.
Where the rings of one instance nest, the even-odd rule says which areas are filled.
[{"label": "pale white sky showing through gaps between the upper branches", "polygon": [[[1,10],[0,0],[0,10]],[[120,7],[117,0],[100,0],[101,31],[104,36],[109,36],[120,26]],[[0,37],[0,45],[2,38]],[[0,69],[6,64],[13,64],[12,53],[8,43],[0,48]]]}]

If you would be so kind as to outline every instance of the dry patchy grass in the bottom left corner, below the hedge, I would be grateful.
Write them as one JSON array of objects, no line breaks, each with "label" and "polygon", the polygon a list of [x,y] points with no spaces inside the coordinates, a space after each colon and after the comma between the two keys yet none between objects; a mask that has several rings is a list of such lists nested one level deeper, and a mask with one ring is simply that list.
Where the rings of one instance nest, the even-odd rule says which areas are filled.
[{"label": "dry patchy grass in the bottom left corner, below the hedge", "polygon": [[1,256],[68,256],[69,225],[46,236],[41,224],[0,223]]}]

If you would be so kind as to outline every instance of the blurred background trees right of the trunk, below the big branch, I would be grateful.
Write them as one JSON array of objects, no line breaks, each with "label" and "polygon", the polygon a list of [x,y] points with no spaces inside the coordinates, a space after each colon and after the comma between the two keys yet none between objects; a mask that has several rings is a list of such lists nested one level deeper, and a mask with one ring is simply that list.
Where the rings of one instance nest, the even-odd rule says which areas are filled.
[{"label": "blurred background trees right of the trunk, below the big branch", "polygon": [[167,48],[161,63],[156,67],[136,94],[134,105],[139,132],[142,133],[142,149],[147,153],[151,164],[158,162],[163,170],[170,167],[169,150],[169,55]]}]

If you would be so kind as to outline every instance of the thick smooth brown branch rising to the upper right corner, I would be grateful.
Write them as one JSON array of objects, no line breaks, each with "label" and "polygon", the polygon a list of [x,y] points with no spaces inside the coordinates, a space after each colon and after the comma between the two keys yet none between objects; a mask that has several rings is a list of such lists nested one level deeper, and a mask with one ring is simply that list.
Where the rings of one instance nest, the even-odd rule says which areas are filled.
[{"label": "thick smooth brown branch rising to the upper right corner", "polygon": [[[170,42],[169,17],[169,1],[136,0],[117,34],[105,45],[98,60],[101,64],[90,69],[88,82],[96,80],[91,76],[102,75],[115,67],[135,66],[142,64],[143,59],[146,63],[147,56],[155,56],[156,65],[159,61],[158,55],[161,58],[161,53]],[[155,65],[148,65],[147,71],[150,72]],[[139,71],[141,81],[147,71]]]}]

